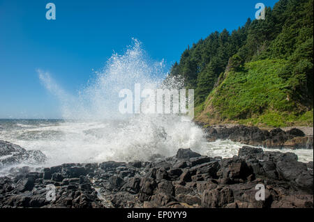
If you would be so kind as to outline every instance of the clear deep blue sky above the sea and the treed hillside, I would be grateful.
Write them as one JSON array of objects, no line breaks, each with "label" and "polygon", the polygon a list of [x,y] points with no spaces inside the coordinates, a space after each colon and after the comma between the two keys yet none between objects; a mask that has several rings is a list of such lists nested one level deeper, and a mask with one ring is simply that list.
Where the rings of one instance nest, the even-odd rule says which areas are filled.
[{"label": "clear deep blue sky above the sea and the treed hillside", "polygon": [[[56,5],[47,20],[45,5]],[[0,118],[59,118],[59,104],[38,79],[49,71],[75,94],[131,38],[167,68],[188,45],[213,31],[232,31],[275,0],[0,0]]]}]

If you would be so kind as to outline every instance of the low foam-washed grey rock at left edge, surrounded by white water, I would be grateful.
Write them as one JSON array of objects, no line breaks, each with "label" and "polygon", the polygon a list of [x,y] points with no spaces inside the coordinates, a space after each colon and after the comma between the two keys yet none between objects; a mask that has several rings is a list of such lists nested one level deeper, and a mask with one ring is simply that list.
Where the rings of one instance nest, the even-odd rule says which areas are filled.
[{"label": "low foam-washed grey rock at left edge, surrounded by white water", "polygon": [[45,162],[45,160],[45,154],[39,150],[25,150],[20,145],[0,141],[0,169],[22,162],[40,164]]}]

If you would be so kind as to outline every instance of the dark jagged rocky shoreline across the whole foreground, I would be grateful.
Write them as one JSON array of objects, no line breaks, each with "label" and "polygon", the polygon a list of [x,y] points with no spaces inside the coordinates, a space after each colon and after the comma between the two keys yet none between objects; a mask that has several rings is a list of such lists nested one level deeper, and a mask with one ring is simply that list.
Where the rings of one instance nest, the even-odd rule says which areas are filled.
[{"label": "dark jagged rocky shoreline across the whole foreground", "polygon": [[[257,184],[264,200],[255,199]],[[228,159],[179,149],[153,161],[24,167],[0,177],[0,207],[313,207],[313,161],[244,146]]]}]

